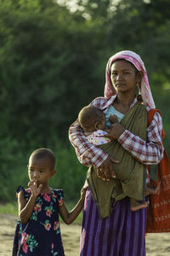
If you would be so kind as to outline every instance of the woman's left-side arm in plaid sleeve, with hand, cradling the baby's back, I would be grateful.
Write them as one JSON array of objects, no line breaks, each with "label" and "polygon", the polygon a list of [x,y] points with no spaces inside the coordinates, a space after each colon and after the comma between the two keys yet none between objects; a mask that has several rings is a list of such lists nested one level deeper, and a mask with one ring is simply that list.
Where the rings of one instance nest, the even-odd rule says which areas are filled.
[{"label": "woman's left-side arm in plaid sleeve, with hand, cradling the baby's back", "polygon": [[[108,108],[113,102],[113,98],[107,99],[99,97],[91,102],[97,108]],[[98,176],[103,179],[109,180],[115,177],[113,166],[111,162],[118,163],[108,154],[105,154],[101,148],[89,143],[88,139],[84,136],[78,120],[73,123],[69,130],[69,139],[72,146],[75,148],[78,160],[85,166],[96,166],[98,168]]]}]

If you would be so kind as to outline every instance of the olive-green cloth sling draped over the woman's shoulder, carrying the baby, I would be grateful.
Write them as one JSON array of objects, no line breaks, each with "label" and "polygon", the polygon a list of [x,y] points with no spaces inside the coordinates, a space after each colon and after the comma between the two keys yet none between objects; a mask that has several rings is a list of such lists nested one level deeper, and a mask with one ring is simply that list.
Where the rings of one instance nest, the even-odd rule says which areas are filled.
[{"label": "olive-green cloth sling draped over the woman's shoulder, carrying the baby", "polygon": [[[121,124],[125,129],[145,140],[147,128],[145,106],[136,102],[122,118]],[[94,166],[89,167],[87,173],[88,185],[97,204],[99,215],[105,218],[111,214],[111,198],[119,201],[129,196],[139,201],[144,200],[145,172],[144,165],[135,160],[116,140],[99,147],[119,160],[118,164],[113,163],[116,178],[110,181],[103,181],[99,178]]]}]

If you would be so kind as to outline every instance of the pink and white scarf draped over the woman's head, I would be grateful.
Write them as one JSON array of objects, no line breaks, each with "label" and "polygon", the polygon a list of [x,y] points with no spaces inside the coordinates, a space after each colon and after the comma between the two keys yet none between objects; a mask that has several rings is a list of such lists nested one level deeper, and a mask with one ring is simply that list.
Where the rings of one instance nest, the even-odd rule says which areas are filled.
[{"label": "pink and white scarf draped over the woman's head", "polygon": [[114,61],[120,59],[130,61],[131,63],[133,63],[133,66],[137,68],[138,71],[143,72],[143,79],[139,84],[139,93],[142,96],[145,106],[148,106],[150,108],[156,108],[154,99],[151,94],[150,84],[144,67],[144,62],[141,60],[139,55],[135,54],[131,50],[122,50],[116,53],[116,55],[111,56],[111,58],[107,62],[105,69],[105,97],[111,97],[116,94],[116,90],[111,83],[111,64]]}]

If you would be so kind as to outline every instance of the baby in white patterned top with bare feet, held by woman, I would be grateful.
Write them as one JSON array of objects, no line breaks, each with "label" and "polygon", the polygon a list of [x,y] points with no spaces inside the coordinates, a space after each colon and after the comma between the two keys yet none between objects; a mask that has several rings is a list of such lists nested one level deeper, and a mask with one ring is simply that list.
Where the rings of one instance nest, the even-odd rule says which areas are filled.
[{"label": "baby in white patterned top with bare feet, held by woman", "polygon": [[[109,138],[105,137],[107,133],[105,132],[105,114],[100,108],[96,108],[94,106],[82,108],[78,114],[78,120],[85,136],[88,138],[90,143],[99,146],[111,141]],[[110,120],[111,123],[118,122],[116,115],[112,115]],[[145,185],[144,195],[146,196],[150,194],[156,194],[156,189],[150,189],[150,187]],[[133,198],[130,198],[130,208],[133,212],[148,207],[149,203],[149,201],[141,203]]]}]

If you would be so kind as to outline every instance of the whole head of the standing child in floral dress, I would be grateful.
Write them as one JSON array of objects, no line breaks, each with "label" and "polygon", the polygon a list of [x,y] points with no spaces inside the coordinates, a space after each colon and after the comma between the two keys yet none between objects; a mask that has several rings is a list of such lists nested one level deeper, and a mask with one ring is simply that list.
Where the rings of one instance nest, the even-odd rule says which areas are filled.
[{"label": "whole head of the standing child in floral dress", "polygon": [[53,151],[48,148],[37,148],[29,158],[28,172],[30,180],[36,180],[37,183],[46,183],[49,177],[53,177],[56,172],[54,166],[55,155]]}]

